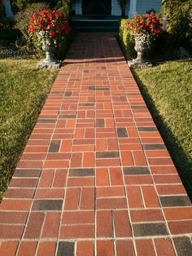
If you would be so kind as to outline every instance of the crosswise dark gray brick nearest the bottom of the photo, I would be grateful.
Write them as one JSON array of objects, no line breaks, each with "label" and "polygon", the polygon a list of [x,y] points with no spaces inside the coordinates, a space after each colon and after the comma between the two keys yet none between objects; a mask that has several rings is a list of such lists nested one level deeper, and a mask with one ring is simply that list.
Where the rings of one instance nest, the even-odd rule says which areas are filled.
[{"label": "crosswise dark gray brick nearest the bottom of the photo", "polygon": [[134,236],[164,236],[168,235],[164,223],[133,224]]}]

